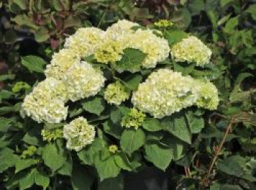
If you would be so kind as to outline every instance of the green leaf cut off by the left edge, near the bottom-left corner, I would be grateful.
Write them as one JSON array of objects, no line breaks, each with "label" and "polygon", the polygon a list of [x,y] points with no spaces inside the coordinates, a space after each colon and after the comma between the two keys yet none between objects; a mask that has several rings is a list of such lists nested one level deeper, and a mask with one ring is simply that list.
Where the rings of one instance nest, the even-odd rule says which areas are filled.
[{"label": "green leaf cut off by the left edge, near the bottom-left corner", "polygon": [[0,151],[0,173],[7,170],[9,167],[15,166],[19,159],[20,157],[18,157],[18,155],[13,154],[12,149],[2,149]]}]

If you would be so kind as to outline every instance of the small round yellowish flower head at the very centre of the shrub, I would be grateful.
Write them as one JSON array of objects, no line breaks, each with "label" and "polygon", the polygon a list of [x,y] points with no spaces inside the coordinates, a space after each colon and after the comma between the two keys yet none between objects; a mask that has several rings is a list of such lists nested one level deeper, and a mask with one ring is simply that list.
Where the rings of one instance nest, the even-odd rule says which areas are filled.
[{"label": "small round yellowish flower head at the very centre of the shrub", "polygon": [[121,82],[114,82],[106,87],[104,98],[108,103],[117,106],[129,98],[129,92]]}]

